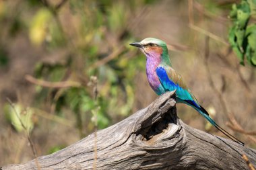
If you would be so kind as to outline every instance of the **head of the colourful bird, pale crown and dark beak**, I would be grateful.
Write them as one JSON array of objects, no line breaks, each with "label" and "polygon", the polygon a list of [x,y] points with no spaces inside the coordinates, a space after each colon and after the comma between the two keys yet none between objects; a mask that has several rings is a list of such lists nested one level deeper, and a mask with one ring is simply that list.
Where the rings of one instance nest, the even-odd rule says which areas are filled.
[{"label": "head of the colourful bird, pale crown and dark beak", "polygon": [[156,38],[145,38],[141,42],[133,42],[131,46],[136,46],[146,55],[147,58],[156,58],[170,62],[166,43]]}]

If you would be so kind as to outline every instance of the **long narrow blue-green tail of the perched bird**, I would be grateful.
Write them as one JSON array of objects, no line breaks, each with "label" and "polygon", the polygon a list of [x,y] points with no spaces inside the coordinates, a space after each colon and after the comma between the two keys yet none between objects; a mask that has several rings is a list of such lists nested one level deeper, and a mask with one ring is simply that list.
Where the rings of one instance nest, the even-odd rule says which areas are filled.
[{"label": "long narrow blue-green tail of the perched bird", "polygon": [[[200,105],[200,107],[201,107],[201,105]],[[214,120],[212,120],[212,118],[210,118],[209,114],[203,107],[197,108],[197,107],[193,106],[193,108],[195,108],[195,110],[197,110],[197,112],[199,112],[203,117],[205,117],[205,119],[207,119],[213,126],[215,126],[218,130],[220,130],[220,132],[225,134],[228,138],[230,138],[234,142],[237,142],[238,144],[241,144],[243,146],[245,145],[244,142],[241,142],[241,140],[238,140],[236,137],[234,137],[230,133],[226,132],[226,130],[224,130],[216,122],[214,122]]]}]

